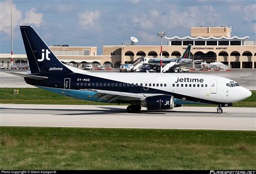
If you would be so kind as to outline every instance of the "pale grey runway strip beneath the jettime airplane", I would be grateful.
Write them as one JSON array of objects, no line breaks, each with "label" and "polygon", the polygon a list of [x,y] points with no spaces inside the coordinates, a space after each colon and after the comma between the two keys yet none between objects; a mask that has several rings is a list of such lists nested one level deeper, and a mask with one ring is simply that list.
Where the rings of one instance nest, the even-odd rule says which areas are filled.
[{"label": "pale grey runway strip beneath the jettime airplane", "polygon": [[0,126],[256,130],[256,108],[180,107],[126,113],[126,106],[0,104]]}]

